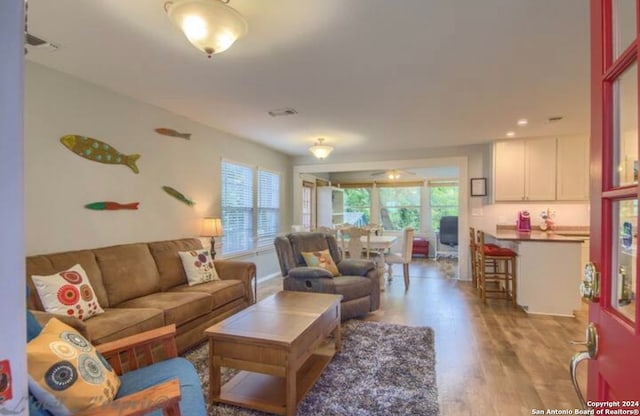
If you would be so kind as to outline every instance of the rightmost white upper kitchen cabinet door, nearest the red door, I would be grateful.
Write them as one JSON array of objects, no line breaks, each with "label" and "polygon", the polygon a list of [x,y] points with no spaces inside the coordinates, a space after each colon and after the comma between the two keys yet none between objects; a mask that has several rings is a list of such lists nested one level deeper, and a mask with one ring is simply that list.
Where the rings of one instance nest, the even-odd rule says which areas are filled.
[{"label": "rightmost white upper kitchen cabinet door, nearest the red door", "polygon": [[563,137],[558,139],[559,201],[589,199],[589,138]]}]

